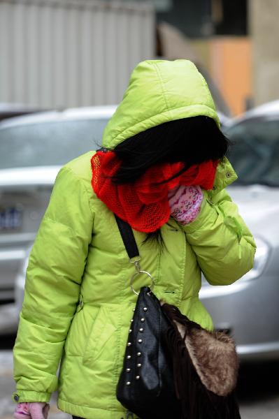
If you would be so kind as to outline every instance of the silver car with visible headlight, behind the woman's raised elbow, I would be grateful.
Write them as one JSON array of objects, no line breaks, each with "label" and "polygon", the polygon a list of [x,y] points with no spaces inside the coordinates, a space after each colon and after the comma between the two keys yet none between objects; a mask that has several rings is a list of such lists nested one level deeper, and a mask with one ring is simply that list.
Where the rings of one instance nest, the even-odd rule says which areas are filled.
[{"label": "silver car with visible headlight, behind the woman's raised elbow", "polygon": [[279,101],[236,119],[227,130],[238,181],[228,191],[257,242],[255,264],[231,286],[200,297],[217,329],[234,335],[242,360],[279,359]]}]

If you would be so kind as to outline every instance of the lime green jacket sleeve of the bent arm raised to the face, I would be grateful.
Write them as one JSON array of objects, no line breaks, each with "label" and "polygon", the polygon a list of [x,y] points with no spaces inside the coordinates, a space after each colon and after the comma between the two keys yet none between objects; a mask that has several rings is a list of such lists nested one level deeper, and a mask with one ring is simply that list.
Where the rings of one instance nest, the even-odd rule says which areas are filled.
[{"label": "lime green jacket sleeve of the bent arm raised to the face", "polygon": [[227,191],[203,196],[199,215],[183,229],[207,281],[229,285],[252,268],[255,241]]}]

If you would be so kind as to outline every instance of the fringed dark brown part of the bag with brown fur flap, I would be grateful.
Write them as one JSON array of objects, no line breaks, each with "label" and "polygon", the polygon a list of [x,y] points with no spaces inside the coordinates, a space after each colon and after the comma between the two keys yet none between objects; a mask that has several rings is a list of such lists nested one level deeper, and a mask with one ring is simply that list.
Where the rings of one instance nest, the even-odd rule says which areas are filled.
[{"label": "fringed dark brown part of the bag with brown fur flap", "polygon": [[165,344],[181,418],[241,418],[234,391],[238,376],[234,340],[224,332],[208,332],[171,304],[161,304],[170,321]]}]

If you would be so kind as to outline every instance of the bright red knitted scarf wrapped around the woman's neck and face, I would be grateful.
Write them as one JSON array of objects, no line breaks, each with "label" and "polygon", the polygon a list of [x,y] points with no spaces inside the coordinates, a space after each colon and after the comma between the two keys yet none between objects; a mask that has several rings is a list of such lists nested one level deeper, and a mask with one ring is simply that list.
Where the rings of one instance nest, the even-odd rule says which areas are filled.
[{"label": "bright red knitted scarf wrapped around the woman's neck and face", "polygon": [[168,192],[178,185],[199,185],[212,189],[218,161],[191,166],[182,175],[164,184],[184,167],[184,163],[160,163],[146,170],[131,184],[115,185],[110,179],[121,161],[114,152],[96,152],[91,159],[92,188],[106,206],[127,221],[134,230],[151,233],[169,220]]}]

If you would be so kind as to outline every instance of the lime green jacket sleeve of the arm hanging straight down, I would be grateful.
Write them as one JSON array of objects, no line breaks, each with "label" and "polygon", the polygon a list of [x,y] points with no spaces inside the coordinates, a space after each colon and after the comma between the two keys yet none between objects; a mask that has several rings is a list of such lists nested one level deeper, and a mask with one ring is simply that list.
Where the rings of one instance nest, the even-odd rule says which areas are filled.
[{"label": "lime green jacket sleeve of the arm hanging straight down", "polygon": [[90,190],[70,168],[60,170],[29,256],[14,347],[16,402],[48,402],[92,240]]}]

